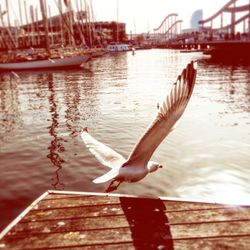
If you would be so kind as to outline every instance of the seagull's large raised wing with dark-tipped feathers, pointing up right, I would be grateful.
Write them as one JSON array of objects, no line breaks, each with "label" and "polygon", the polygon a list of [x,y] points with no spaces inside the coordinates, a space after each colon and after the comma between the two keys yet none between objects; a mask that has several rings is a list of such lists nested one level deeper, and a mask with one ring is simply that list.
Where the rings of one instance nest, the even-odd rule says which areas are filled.
[{"label": "seagull's large raised wing with dark-tipped feathers, pointing up right", "polygon": [[[177,77],[169,95],[159,107],[158,114],[131,152],[128,163],[147,164],[155,149],[172,130],[183,114],[191,97],[196,78],[196,67],[191,62]],[[124,166],[126,166],[124,165]]]}]

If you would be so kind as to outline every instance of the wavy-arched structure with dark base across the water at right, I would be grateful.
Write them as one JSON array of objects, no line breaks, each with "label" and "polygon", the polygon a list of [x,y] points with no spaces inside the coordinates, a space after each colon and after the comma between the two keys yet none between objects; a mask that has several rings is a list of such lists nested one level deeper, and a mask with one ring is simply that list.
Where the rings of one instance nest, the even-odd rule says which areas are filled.
[{"label": "wavy-arched structure with dark base across the water at right", "polygon": [[[204,50],[206,54],[243,56],[250,51],[250,1],[230,0],[211,17],[199,21],[198,30],[184,32],[177,14],[167,15],[154,29],[161,47]],[[241,1],[242,3],[242,1]]]}]

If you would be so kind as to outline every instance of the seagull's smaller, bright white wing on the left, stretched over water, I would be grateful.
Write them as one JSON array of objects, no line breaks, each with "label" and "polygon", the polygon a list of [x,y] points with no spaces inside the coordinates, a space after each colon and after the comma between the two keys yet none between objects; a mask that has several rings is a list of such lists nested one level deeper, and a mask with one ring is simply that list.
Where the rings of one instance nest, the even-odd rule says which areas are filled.
[{"label": "seagull's smaller, bright white wing on the left, stretched over water", "polygon": [[126,160],[119,153],[104,145],[93,138],[84,128],[81,132],[81,138],[86,144],[89,151],[100,161],[104,166],[109,168],[120,167]]}]

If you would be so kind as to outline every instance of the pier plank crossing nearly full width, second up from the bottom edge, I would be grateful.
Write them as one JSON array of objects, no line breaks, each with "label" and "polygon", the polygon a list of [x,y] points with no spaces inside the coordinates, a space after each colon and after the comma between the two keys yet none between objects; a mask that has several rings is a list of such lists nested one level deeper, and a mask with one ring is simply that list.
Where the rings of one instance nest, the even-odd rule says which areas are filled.
[{"label": "pier plank crossing nearly full width, second up from the bottom edge", "polygon": [[46,248],[47,246],[55,248],[77,245],[128,243],[134,242],[135,240],[140,241],[141,244],[147,241],[159,244],[161,241],[164,242],[168,240],[209,240],[210,238],[215,237],[249,237],[249,226],[250,223],[245,222],[215,223],[212,227],[210,224],[174,225],[171,226],[171,232],[168,232],[166,228],[159,226],[159,228],[154,229],[154,235],[147,234],[147,230],[152,232],[152,229],[150,230],[150,228],[144,228],[144,230],[140,232],[135,232],[136,229],[133,231],[131,227],[61,233],[26,234],[22,237],[18,237],[17,235],[13,235],[13,237],[7,235],[4,239],[4,244],[10,249],[15,245],[20,246],[21,249],[32,247]]}]

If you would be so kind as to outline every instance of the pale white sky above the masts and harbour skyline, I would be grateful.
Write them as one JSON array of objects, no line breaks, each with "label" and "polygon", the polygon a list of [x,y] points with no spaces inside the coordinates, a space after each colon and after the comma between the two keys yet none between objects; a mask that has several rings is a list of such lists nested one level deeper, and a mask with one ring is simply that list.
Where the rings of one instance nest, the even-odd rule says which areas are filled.
[{"label": "pale white sky above the masts and harbour skyline", "polygon": [[[18,1],[8,0],[11,19],[17,19]],[[39,0],[25,0],[26,5],[39,6]],[[57,1],[57,0],[56,0]],[[84,5],[85,0],[71,0],[73,7],[76,2]],[[229,0],[92,0],[93,13],[96,21],[125,22],[127,33],[152,32],[170,13],[177,13],[178,19],[183,20],[182,28],[189,28],[190,18],[195,10],[203,9],[203,17],[207,18],[223,7]],[[241,0],[239,0],[241,1]],[[244,0],[242,0],[244,1]],[[246,0],[245,0],[246,1]],[[90,3],[91,0],[86,0]],[[55,0],[47,0],[51,12],[58,14]],[[0,0],[1,9],[5,10],[5,0]],[[117,8],[118,7],[118,8]],[[117,11],[118,10],[118,11]],[[6,18],[6,17],[5,17]],[[23,16],[23,20],[25,20]]]}]

